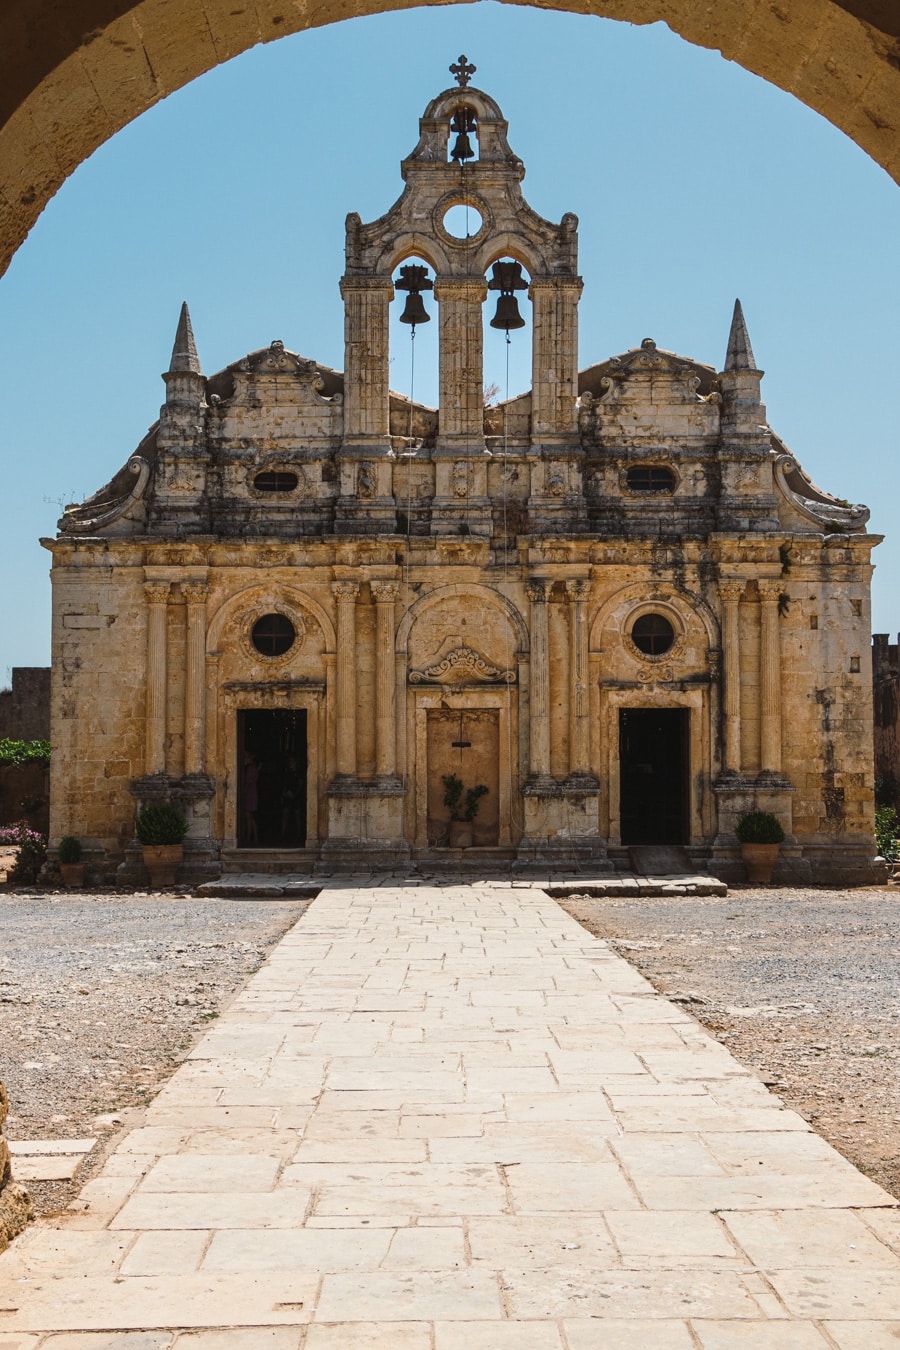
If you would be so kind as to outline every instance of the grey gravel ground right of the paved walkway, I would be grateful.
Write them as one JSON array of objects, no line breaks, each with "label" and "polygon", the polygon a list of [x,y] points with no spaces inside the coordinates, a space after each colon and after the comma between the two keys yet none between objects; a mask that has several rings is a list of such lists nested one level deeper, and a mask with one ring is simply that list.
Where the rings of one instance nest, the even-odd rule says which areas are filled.
[{"label": "grey gravel ground right of the paved walkway", "polygon": [[561,905],[900,1199],[900,891]]}]

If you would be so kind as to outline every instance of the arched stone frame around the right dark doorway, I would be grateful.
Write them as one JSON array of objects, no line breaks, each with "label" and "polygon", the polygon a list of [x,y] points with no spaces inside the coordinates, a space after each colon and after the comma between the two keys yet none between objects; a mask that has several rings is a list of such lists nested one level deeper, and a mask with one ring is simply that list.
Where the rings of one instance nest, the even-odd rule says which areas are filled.
[{"label": "arched stone frame around the right dark doorway", "polygon": [[[649,594],[648,594],[649,593]],[[673,617],[683,634],[702,636],[708,678],[694,687],[684,684],[687,675],[696,676],[695,667],[684,668],[684,657],[673,651],[672,663],[667,655],[646,656],[633,649],[625,633],[625,624],[617,628],[621,641],[618,655],[626,662],[617,672],[610,670],[609,651],[603,649],[602,634],[609,629],[617,612],[625,612],[630,628],[634,617],[661,612]],[[715,834],[715,802],[711,783],[718,772],[719,725],[719,624],[702,595],[676,589],[669,582],[648,579],[622,586],[595,610],[590,624],[588,660],[591,668],[591,760],[598,765],[598,776],[606,791],[600,795],[600,833],[610,846],[622,842],[619,792],[619,709],[622,707],[687,707],[690,710],[690,842],[711,842]],[[683,670],[679,671],[679,663]],[[638,671],[649,678],[640,682]]]}]

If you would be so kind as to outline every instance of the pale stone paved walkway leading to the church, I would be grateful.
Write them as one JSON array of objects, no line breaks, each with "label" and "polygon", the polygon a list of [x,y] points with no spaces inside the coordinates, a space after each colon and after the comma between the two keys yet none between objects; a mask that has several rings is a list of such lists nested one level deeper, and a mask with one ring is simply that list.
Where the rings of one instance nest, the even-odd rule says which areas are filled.
[{"label": "pale stone paved walkway leading to the church", "polygon": [[882,1350],[900,1211],[538,890],[329,887],[0,1350]]}]

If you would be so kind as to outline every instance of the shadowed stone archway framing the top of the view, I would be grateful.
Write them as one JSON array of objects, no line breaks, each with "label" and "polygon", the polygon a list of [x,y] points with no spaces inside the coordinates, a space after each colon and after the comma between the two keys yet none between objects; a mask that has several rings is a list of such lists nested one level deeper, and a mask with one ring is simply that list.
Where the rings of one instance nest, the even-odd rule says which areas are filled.
[{"label": "shadowed stone archway framing the top of the view", "polygon": [[[46,202],[104,140],[190,80],[260,42],[409,0],[22,0],[0,55],[0,274]],[[556,0],[667,23],[822,113],[900,181],[895,0]]]}]

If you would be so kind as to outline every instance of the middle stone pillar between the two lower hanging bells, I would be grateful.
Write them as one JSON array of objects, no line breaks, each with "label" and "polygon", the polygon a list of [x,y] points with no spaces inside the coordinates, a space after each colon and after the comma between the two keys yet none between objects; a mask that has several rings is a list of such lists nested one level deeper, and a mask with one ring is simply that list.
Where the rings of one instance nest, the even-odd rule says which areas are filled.
[{"label": "middle stone pillar between the two lower hanging bells", "polygon": [[439,277],[434,282],[440,306],[439,447],[448,440],[463,440],[472,451],[484,447],[482,305],[486,297],[483,277]]}]

